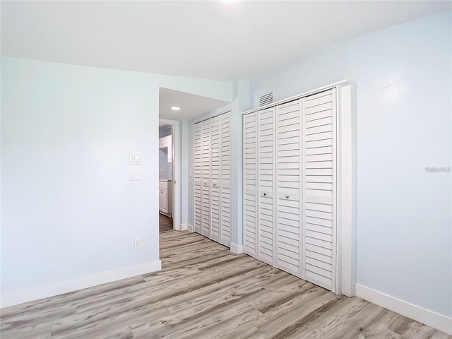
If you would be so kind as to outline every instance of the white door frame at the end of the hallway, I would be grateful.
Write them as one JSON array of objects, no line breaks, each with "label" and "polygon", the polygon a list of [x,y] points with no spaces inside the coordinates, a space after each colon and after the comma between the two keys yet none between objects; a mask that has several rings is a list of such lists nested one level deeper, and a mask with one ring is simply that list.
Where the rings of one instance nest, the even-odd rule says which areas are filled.
[{"label": "white door frame at the end of the hallway", "polygon": [[[180,161],[179,161],[179,139],[180,139],[180,121],[169,119],[158,119],[159,124],[171,125],[171,154],[172,154],[172,228],[181,230],[181,177],[180,177]],[[169,150],[168,150],[169,151]]]}]

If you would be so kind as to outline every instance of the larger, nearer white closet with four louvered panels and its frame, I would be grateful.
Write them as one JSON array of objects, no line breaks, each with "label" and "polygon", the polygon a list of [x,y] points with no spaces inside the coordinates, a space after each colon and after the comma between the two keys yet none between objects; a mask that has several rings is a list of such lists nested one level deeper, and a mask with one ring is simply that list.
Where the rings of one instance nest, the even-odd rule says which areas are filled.
[{"label": "larger, nearer white closet with four louvered panels and its frame", "polygon": [[244,112],[244,253],[355,295],[355,85]]}]

